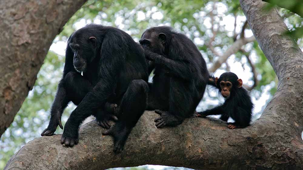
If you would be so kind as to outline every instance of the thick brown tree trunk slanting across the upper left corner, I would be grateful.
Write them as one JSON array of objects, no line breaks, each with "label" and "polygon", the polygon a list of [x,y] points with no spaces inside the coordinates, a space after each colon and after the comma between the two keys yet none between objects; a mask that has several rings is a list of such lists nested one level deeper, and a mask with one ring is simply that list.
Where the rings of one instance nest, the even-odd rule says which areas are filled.
[{"label": "thick brown tree trunk slanting across the upper left corner", "polygon": [[0,137],[32,89],[53,39],[85,2],[0,1]]}]

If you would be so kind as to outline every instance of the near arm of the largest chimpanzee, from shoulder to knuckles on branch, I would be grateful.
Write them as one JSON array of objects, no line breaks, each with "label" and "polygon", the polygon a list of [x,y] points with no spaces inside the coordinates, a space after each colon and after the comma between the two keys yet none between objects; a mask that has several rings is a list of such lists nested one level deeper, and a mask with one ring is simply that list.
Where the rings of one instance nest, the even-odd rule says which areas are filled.
[{"label": "near arm of the largest chimpanzee, from shoulder to knuckles on branch", "polygon": [[101,58],[99,64],[99,81],[95,87],[86,94],[81,103],[71,113],[65,123],[61,143],[74,145],[78,140],[78,127],[82,121],[92,112],[104,106],[106,100],[112,96],[117,84],[120,69],[125,63],[125,42],[116,34],[107,33],[101,47]]}]

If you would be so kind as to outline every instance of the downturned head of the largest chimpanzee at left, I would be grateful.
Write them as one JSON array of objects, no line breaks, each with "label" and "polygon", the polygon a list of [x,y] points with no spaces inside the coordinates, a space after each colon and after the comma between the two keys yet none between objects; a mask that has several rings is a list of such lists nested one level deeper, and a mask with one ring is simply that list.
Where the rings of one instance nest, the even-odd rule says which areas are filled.
[{"label": "downturned head of the largest chimpanzee at left", "polygon": [[75,32],[69,41],[69,47],[74,53],[74,68],[78,72],[85,72],[88,65],[95,58],[96,38],[80,36]]}]

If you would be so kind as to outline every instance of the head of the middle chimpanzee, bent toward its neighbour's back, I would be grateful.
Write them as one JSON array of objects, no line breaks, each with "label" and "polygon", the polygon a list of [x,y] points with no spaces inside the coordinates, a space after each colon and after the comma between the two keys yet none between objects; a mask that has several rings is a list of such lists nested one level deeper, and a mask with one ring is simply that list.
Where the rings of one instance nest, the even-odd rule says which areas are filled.
[{"label": "head of the middle chimpanzee, bent toward its neighbour's back", "polygon": [[166,41],[167,37],[164,33],[158,33],[153,29],[148,29],[142,34],[139,43],[154,53],[163,55]]}]

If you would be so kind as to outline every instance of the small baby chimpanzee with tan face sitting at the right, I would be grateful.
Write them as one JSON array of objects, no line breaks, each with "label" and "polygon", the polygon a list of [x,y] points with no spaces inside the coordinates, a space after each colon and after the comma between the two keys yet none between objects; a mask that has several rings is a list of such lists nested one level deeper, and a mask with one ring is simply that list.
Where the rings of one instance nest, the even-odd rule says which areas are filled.
[{"label": "small baby chimpanzee with tan face sitting at the right", "polygon": [[242,87],[242,80],[236,74],[226,72],[220,78],[210,78],[208,84],[219,90],[219,94],[221,93],[225,98],[225,102],[213,109],[198,112],[197,117],[221,115],[220,119],[226,122],[231,117],[235,123],[228,123],[229,129],[249,126],[254,104],[251,102],[248,92]]}]

